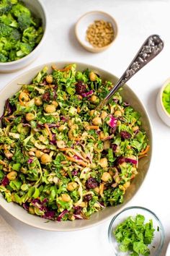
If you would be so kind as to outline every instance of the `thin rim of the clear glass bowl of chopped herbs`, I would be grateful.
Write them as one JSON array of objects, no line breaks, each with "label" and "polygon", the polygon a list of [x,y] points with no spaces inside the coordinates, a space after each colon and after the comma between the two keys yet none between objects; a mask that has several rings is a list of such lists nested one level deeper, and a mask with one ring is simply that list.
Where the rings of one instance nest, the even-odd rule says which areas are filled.
[{"label": "thin rim of the clear glass bowl of chopped herbs", "polygon": [[[114,221],[117,219],[117,217],[119,217],[122,213],[128,211],[128,210],[133,210],[133,209],[140,209],[140,210],[144,210],[146,212],[148,212],[149,214],[151,214],[151,216],[153,216],[153,218],[156,219],[156,221],[158,221],[158,224],[161,228],[161,243],[158,247],[158,250],[156,251],[156,255],[158,256],[159,253],[161,252],[163,246],[164,246],[164,240],[165,240],[165,231],[164,231],[164,226],[163,224],[161,223],[161,220],[158,218],[158,216],[156,215],[156,213],[153,213],[152,210],[148,209],[148,208],[145,208],[143,206],[130,206],[128,208],[124,208],[123,210],[120,211],[120,213],[117,213],[117,215],[115,215],[113,218],[112,218],[112,221],[109,223],[109,229],[108,229],[108,238],[109,238],[109,243],[112,244],[112,240],[111,240],[111,237],[112,237],[112,225],[114,223]],[[128,218],[128,216],[127,216]],[[115,252],[116,253],[116,252]],[[116,255],[118,256],[118,255]]]}]

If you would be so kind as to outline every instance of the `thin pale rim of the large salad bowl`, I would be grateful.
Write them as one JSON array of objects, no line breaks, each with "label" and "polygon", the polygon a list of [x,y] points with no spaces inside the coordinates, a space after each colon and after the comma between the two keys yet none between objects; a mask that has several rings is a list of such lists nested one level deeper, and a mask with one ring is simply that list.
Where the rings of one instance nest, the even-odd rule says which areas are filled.
[{"label": "thin pale rim of the large salad bowl", "polygon": [[[118,78],[115,76],[115,74],[112,74],[112,72],[109,72],[109,71],[107,71],[106,69],[102,69],[102,68],[100,68],[100,67],[97,67],[97,66],[95,66],[95,65],[93,65],[93,64],[88,64],[88,63],[85,63],[85,62],[79,62],[79,61],[48,61],[48,62],[46,62],[46,63],[43,63],[43,64],[39,64],[39,65],[37,65],[36,67],[32,67],[31,69],[28,69],[28,70],[26,70],[26,71],[24,71],[24,72],[22,72],[21,74],[18,74],[17,75],[17,77],[14,77],[12,80],[10,80],[5,86],[4,86],[4,88],[1,88],[1,90],[0,90],[0,95],[1,95],[1,93],[4,93],[4,90],[6,90],[6,88],[8,88],[9,87],[9,85],[13,82],[13,81],[15,81],[15,80],[18,80],[19,79],[19,77],[22,77],[22,76],[25,76],[25,75],[27,75],[27,74],[29,74],[30,72],[32,72],[32,71],[34,71],[35,69],[42,69],[42,67],[51,67],[53,64],[58,64],[58,65],[66,65],[66,64],[77,64],[77,65],[83,65],[84,67],[89,67],[89,68],[91,68],[91,69],[95,69],[95,71],[99,71],[99,72],[104,72],[104,73],[107,73],[107,74],[109,74],[109,75],[111,75],[112,77],[115,77],[117,80],[118,80]],[[31,77],[30,77],[30,79],[31,79]],[[138,95],[128,86],[128,85],[126,85],[126,87],[128,88],[128,90],[130,91],[130,93],[133,93],[137,98],[138,98]],[[145,114],[146,114],[146,117],[147,117],[147,119],[148,119],[148,124],[149,124],[149,129],[150,129],[150,137],[151,137],[151,148],[150,148],[150,152],[151,152],[151,155],[152,155],[152,151],[153,151],[153,127],[152,127],[152,124],[151,124],[151,119],[150,119],[150,117],[149,117],[149,115],[148,115],[148,111],[146,110],[146,107],[143,105],[143,103],[142,103],[142,101],[140,101],[140,98],[138,98],[138,102],[140,103],[140,106],[142,106],[142,108],[143,108],[143,110],[144,110],[144,112],[145,112]],[[151,161],[152,161],[152,158],[150,158],[150,161],[149,161],[149,163],[148,163],[148,170],[149,170],[149,168],[150,168],[150,166],[151,166]],[[146,180],[146,176],[148,175],[148,171],[146,172],[146,175],[144,176],[144,178],[143,178],[143,182],[145,182],[145,180]],[[142,184],[143,184],[143,182],[142,182]],[[141,189],[141,185],[142,184],[140,184],[140,186],[138,187],[138,189],[136,190],[136,192],[135,192],[135,194],[128,200],[128,202],[127,203],[129,203],[131,200],[133,200],[133,198],[138,194],[138,192],[140,191],[140,189]],[[3,199],[4,199],[4,197],[3,197]],[[4,199],[5,200],[5,199]],[[1,201],[1,197],[0,197],[0,201]],[[1,206],[1,208],[3,208],[4,210],[6,210],[6,207],[4,207],[4,205],[0,205]],[[17,206],[19,206],[19,205],[17,205]],[[24,209],[23,209],[24,210]],[[19,220],[19,221],[21,221],[22,223],[25,223],[25,224],[27,224],[27,225],[29,225],[29,226],[32,226],[32,227],[35,227],[35,228],[37,228],[37,229],[41,229],[41,230],[47,230],[47,231],[76,231],[76,230],[82,230],[82,229],[89,229],[89,228],[91,228],[91,227],[93,227],[93,226],[97,226],[97,225],[99,225],[99,224],[101,224],[101,223],[104,223],[104,221],[107,221],[109,218],[112,218],[112,216],[114,215],[114,214],[116,214],[117,215],[117,213],[120,213],[122,210],[121,209],[118,209],[117,210],[117,213],[110,213],[108,216],[106,216],[106,217],[104,217],[104,218],[102,218],[101,220],[99,220],[99,221],[97,221],[97,222],[95,222],[95,223],[89,223],[88,225],[86,225],[86,226],[82,226],[82,227],[77,227],[77,228],[73,228],[73,229],[71,229],[71,228],[67,228],[67,229],[55,229],[55,227],[54,227],[54,229],[51,229],[50,227],[43,227],[40,223],[37,223],[37,224],[35,224],[35,223],[29,223],[27,220],[25,220],[25,219],[23,219],[23,218],[20,218],[19,216],[17,216],[17,214],[15,214],[15,212],[10,212],[10,211],[8,211],[8,210],[6,210],[7,211],[7,213],[9,213],[11,216],[13,216],[14,218],[17,218],[17,220]],[[97,214],[97,213],[96,213]],[[39,217],[40,218],[40,217]]]}]

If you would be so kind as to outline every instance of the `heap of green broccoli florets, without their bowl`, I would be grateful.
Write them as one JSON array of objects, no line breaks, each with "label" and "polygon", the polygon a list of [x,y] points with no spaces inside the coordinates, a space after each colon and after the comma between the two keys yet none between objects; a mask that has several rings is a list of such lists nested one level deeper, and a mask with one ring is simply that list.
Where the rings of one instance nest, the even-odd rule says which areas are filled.
[{"label": "heap of green broccoli florets, without their bowl", "polygon": [[30,54],[42,34],[41,20],[32,17],[22,1],[0,0],[0,61],[15,61]]}]

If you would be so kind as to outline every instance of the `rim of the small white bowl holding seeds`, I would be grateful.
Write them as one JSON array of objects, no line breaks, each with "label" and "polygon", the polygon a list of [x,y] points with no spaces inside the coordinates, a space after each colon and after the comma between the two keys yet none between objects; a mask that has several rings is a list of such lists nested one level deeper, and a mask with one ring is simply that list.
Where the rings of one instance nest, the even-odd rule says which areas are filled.
[{"label": "rim of the small white bowl holding seeds", "polygon": [[[93,15],[93,14],[96,14],[96,13],[99,13],[99,14],[104,14],[106,17],[109,17],[111,20],[112,20],[112,23],[115,24],[115,27],[116,27],[116,30],[114,30],[115,32],[115,36],[112,40],[111,43],[109,43],[107,46],[103,46],[103,47],[93,47],[93,46],[87,46],[85,43],[83,43],[83,41],[79,38],[79,33],[78,33],[78,26],[80,24],[80,22],[84,19],[84,17],[88,16],[88,15]],[[81,44],[81,46],[83,46],[84,48],[88,49],[89,51],[102,51],[102,50],[105,50],[107,49],[109,46],[112,45],[112,43],[115,42],[115,40],[117,39],[117,34],[118,34],[118,26],[117,26],[117,22],[115,20],[114,17],[112,17],[111,14],[108,14],[107,12],[103,12],[103,11],[90,11],[90,12],[86,12],[85,14],[81,15],[81,17],[79,17],[79,20],[77,20],[76,22],[76,25],[75,25],[75,34],[76,34],[76,38],[77,40],[79,41],[79,43]]]}]

